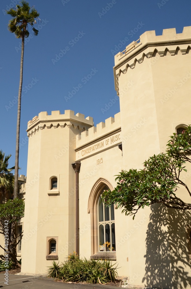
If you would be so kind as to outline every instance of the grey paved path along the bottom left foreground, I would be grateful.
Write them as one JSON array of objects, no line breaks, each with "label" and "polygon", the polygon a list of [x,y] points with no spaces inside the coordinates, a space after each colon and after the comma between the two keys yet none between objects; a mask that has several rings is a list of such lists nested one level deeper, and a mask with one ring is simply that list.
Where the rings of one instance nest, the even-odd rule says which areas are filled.
[{"label": "grey paved path along the bottom left foreground", "polygon": [[[49,279],[47,277],[33,277],[33,276],[26,276],[26,275],[9,275],[8,285],[4,284],[5,275],[0,274],[0,288],[7,288],[7,289],[107,289],[112,288],[115,289],[113,286],[108,285],[100,285],[100,284],[75,284],[75,283],[62,283],[62,282],[55,282],[53,279]],[[117,288],[116,288],[117,289]]]}]

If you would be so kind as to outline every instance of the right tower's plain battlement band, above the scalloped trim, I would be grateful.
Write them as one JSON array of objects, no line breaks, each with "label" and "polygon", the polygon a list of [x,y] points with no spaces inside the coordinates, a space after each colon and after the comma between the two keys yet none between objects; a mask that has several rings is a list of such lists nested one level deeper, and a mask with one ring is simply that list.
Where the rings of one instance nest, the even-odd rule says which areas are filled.
[{"label": "right tower's plain battlement band, above the scalloped trim", "polygon": [[148,46],[186,43],[188,39],[191,39],[191,26],[184,27],[182,33],[176,33],[176,28],[163,29],[162,35],[158,36],[156,36],[155,30],[146,31],[137,41],[131,42],[124,51],[115,55],[115,66],[132,56],[137,50],[145,49]]}]

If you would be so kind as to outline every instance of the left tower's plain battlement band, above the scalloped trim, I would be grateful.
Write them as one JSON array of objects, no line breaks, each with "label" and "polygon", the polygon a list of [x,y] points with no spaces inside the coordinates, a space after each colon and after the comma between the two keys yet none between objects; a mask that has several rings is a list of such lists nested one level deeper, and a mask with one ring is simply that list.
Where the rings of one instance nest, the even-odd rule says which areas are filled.
[{"label": "left tower's plain battlement band, above the scalloped trim", "polygon": [[73,110],[65,110],[64,114],[60,114],[59,110],[52,111],[50,115],[45,112],[40,112],[38,116],[33,117],[32,120],[28,122],[27,132],[30,131],[33,127],[40,123],[76,123],[80,125],[85,125],[87,127],[93,126],[93,118],[88,116],[85,118],[84,114],[77,113],[74,114]]}]

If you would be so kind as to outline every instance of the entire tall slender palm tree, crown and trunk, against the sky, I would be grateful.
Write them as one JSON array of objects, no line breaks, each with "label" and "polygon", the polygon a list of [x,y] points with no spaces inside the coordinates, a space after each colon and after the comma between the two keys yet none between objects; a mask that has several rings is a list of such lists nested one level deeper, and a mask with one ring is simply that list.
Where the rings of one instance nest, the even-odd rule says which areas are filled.
[{"label": "entire tall slender palm tree, crown and trunk, against the sky", "polygon": [[37,10],[29,6],[26,1],[21,1],[21,5],[16,5],[16,8],[11,8],[7,14],[12,18],[8,24],[8,30],[14,33],[16,38],[22,39],[21,47],[21,61],[20,61],[20,82],[18,89],[18,112],[17,112],[17,126],[16,126],[16,153],[15,153],[15,178],[14,178],[14,199],[18,194],[18,158],[19,158],[19,133],[20,133],[20,107],[21,107],[21,91],[23,84],[23,55],[25,38],[29,37],[28,25],[31,25],[34,35],[38,35],[38,30],[33,27],[36,23],[35,18],[40,15]]}]

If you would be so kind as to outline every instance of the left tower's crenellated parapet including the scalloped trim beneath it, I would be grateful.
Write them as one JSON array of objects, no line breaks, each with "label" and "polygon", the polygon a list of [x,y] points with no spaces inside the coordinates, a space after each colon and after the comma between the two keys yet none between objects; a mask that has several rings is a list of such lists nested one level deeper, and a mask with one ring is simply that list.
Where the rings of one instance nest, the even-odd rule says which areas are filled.
[{"label": "left tower's crenellated parapet including the scalloped trim beneath it", "polygon": [[84,114],[74,114],[73,110],[65,110],[64,114],[60,114],[59,110],[52,111],[50,115],[45,112],[40,112],[38,116],[33,117],[27,125],[28,136],[32,136],[39,129],[64,128],[64,127],[78,128],[79,131],[84,131],[93,126],[93,118],[88,116],[85,118]]}]

